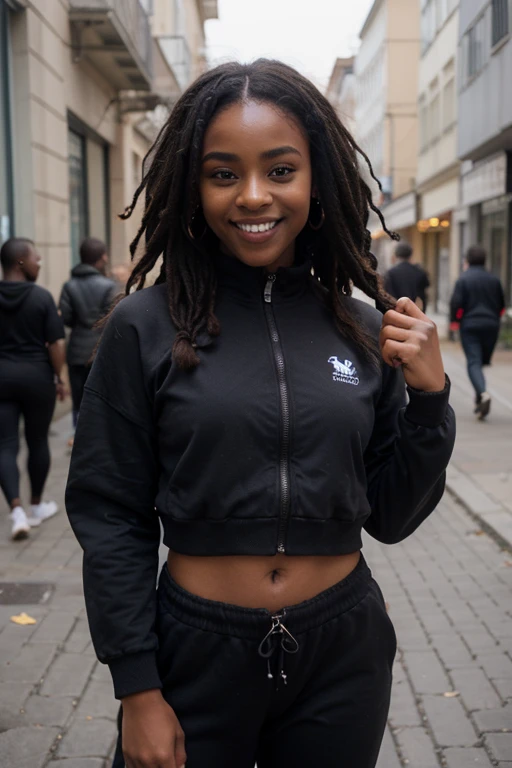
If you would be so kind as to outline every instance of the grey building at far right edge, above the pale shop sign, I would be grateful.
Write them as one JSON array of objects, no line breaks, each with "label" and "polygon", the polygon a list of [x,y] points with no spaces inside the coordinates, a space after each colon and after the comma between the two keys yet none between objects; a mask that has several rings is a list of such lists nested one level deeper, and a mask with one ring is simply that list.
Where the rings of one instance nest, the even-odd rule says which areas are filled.
[{"label": "grey building at far right edge, above the pale shop sign", "polygon": [[460,231],[512,294],[512,1],[461,0]]}]

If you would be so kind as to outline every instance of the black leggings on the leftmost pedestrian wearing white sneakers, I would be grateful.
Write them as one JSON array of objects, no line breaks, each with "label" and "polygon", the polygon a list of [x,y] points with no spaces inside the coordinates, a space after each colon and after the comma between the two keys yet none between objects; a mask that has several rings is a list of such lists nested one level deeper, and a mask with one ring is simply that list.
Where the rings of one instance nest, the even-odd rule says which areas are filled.
[{"label": "black leggings on the leftmost pedestrian wearing white sneakers", "polygon": [[23,416],[32,496],[41,496],[50,469],[48,430],[55,408],[55,384],[46,363],[0,360],[0,487],[10,505],[20,495],[16,462]]}]

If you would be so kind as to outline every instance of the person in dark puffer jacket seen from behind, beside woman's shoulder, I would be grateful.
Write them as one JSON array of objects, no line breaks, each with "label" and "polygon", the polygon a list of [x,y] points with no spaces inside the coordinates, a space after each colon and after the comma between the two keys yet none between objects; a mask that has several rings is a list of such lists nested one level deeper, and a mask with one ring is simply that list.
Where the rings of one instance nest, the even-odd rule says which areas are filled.
[{"label": "person in dark puffer jacket seen from behind, beside woman's shoulder", "polygon": [[[59,309],[64,325],[71,328],[66,361],[68,364],[73,427],[76,428],[85,382],[100,330],[97,323],[104,317],[119,288],[106,276],[107,246],[96,237],[86,237],[80,246],[80,264],[71,270],[71,278],[62,287]],[[69,441],[73,445],[73,439]]]}]

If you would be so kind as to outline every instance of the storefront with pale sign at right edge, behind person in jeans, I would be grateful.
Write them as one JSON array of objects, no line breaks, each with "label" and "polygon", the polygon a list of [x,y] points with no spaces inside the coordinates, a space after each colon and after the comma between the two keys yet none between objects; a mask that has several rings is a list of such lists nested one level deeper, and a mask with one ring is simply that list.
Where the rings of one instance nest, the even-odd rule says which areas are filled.
[{"label": "storefront with pale sign at right edge, behind person in jeans", "polygon": [[461,178],[462,203],[469,209],[464,240],[487,250],[488,268],[512,295],[512,153],[499,152],[474,163]]}]

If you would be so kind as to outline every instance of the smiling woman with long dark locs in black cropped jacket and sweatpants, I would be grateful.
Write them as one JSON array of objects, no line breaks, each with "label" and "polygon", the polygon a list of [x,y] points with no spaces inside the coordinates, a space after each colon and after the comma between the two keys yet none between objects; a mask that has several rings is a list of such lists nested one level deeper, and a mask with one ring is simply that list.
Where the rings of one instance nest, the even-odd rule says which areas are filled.
[{"label": "smiling woman with long dark locs in black cropped jacket and sweatpants", "polygon": [[294,69],[203,74],[152,151],[66,495],[114,766],[373,768],[396,638],[361,529],[400,541],[442,496],[435,325],[381,292],[360,150]]}]

